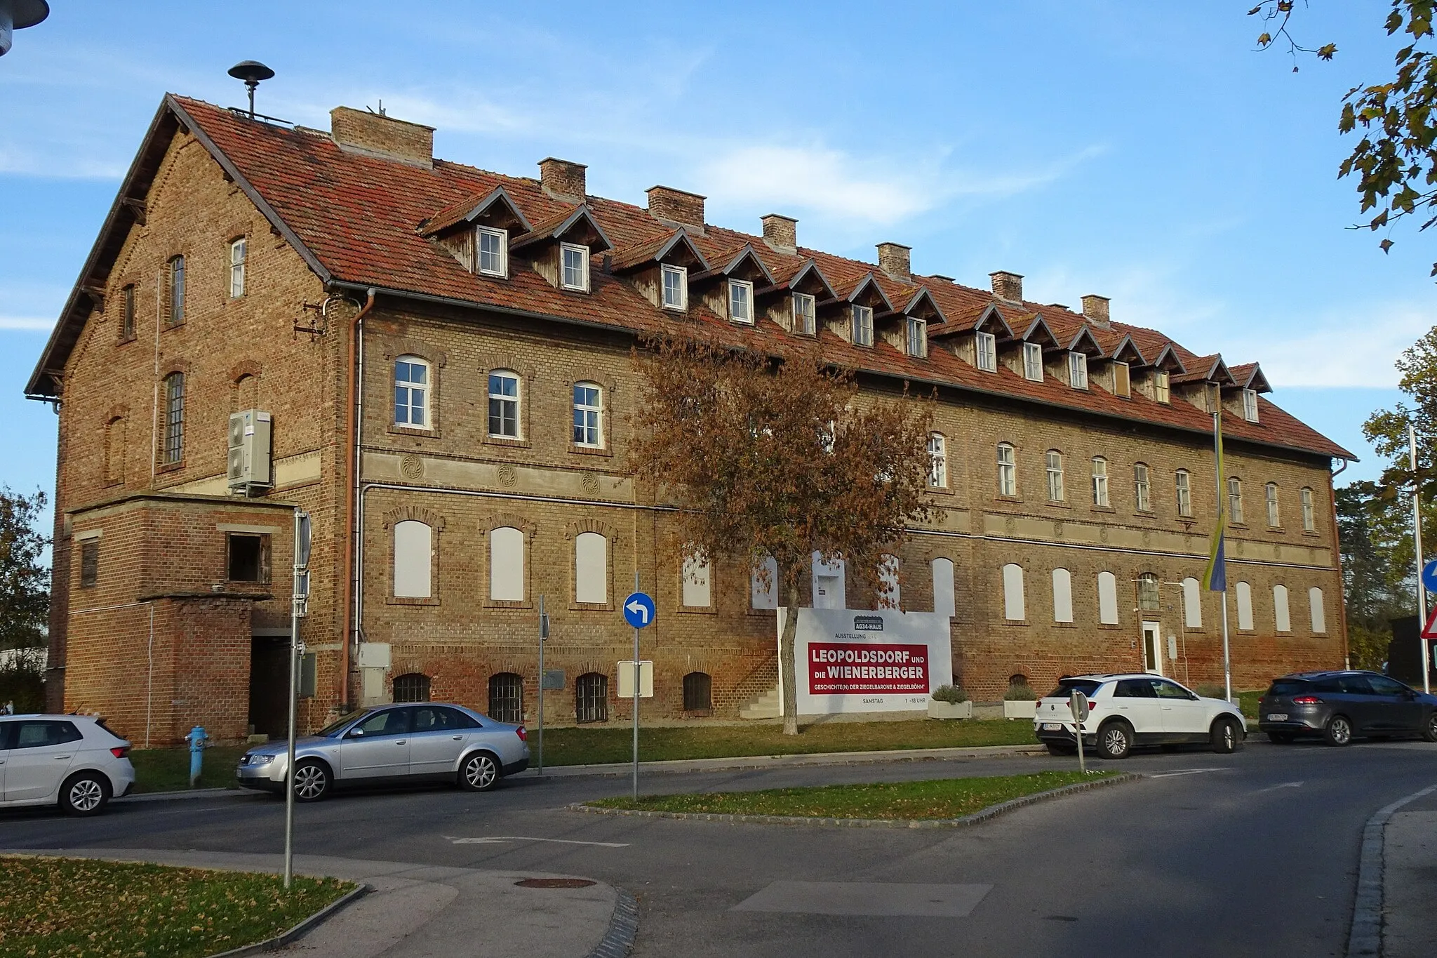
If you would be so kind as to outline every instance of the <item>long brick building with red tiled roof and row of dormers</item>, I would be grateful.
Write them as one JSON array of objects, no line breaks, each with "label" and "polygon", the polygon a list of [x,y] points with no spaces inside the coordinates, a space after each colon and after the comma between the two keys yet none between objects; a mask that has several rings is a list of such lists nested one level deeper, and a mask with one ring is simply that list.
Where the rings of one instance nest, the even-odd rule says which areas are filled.
[{"label": "long brick building with red tiled roof and row of dormers", "polygon": [[[622,718],[635,573],[660,608],[650,714],[737,715],[776,684],[775,602],[746,569],[685,579],[624,465],[635,335],[675,326],[816,338],[874,394],[937,388],[946,517],[901,550],[901,605],[951,616],[976,699],[1089,669],[1220,679],[1197,585],[1219,402],[1236,681],[1342,664],[1352,457],[1256,363],[1101,296],[1030,303],[1013,273],[971,289],[894,243],[859,263],[787,217],[746,234],[694,194],[639,207],[539,168],[437,159],[430,128],[346,108],[325,132],[165,98],[27,386],[59,406],[52,708],[147,744],[279,731],[302,507],[309,727],[391,697],[533,720],[540,596],[566,676],[546,721]],[[813,572],[821,603],[872,608],[867,576]]]}]

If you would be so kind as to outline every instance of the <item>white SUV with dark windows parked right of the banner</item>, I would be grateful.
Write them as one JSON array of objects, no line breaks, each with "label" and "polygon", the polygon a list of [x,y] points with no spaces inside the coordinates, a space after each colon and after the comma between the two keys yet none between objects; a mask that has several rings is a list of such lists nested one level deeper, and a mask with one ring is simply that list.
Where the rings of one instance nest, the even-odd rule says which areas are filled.
[{"label": "white SUV with dark windows parked right of the banner", "polygon": [[1073,692],[1088,697],[1092,710],[1082,724],[1083,744],[1102,758],[1127,758],[1135,745],[1207,744],[1216,753],[1242,747],[1247,722],[1242,711],[1220,698],[1203,698],[1170,678],[1132,672],[1075,675],[1038,699],[1033,731],[1055,755],[1076,755],[1068,702]]}]

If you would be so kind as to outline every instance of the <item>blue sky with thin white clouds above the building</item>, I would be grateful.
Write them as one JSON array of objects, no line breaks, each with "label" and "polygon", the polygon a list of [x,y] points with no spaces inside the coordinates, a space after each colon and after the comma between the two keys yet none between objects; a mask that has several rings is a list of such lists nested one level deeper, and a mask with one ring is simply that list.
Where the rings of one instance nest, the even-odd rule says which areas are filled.
[{"label": "blue sky with thin white clouds above the building", "polygon": [[1253,52],[1253,0],[1161,3],[73,3],[0,59],[0,484],[53,487],[55,417],[22,398],[165,90],[328,128],[336,105],[437,126],[441,157],[512,174],[547,155],[634,203],[799,218],[806,246],[1114,319],[1259,361],[1270,396],[1380,468],[1361,422],[1437,320],[1437,234],[1384,256],[1349,227],[1342,95],[1391,72],[1384,0],[1312,0],[1334,63]]}]

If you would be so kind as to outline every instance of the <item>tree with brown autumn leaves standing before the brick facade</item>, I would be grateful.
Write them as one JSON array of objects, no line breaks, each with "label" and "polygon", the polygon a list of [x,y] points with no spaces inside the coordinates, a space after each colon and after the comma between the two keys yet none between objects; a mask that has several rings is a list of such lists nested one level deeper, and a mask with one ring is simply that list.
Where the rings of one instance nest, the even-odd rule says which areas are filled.
[{"label": "tree with brown autumn leaves standing before the brick facade", "polygon": [[677,508],[675,556],[736,562],[764,586],[777,563],[787,606],[779,639],[783,731],[798,734],[793,639],[800,585],[816,554],[878,575],[908,527],[940,510],[927,488],[930,401],[907,388],[858,395],[818,350],[785,359],[691,338],[634,352],[642,376],[631,467]]}]

